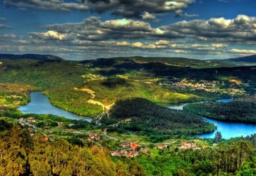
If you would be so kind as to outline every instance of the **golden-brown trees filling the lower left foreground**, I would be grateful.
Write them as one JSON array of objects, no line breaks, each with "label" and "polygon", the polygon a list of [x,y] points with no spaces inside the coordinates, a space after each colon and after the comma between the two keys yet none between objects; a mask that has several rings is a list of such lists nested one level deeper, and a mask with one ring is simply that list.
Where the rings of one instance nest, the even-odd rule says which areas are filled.
[{"label": "golden-brown trees filling the lower left foreground", "polygon": [[135,161],[115,164],[104,147],[49,142],[39,134],[28,136],[19,126],[0,135],[0,175],[145,175]]}]

